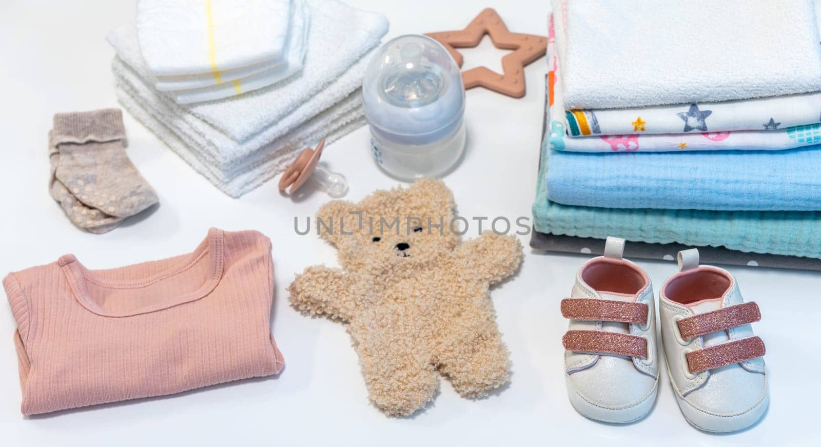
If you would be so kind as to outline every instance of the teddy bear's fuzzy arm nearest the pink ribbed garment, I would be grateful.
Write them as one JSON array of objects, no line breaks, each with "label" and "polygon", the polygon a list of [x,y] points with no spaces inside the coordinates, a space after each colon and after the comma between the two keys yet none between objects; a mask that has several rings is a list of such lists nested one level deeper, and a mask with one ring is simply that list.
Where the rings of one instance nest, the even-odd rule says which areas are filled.
[{"label": "teddy bear's fuzzy arm nearest the pink ribbed garment", "polygon": [[367,292],[362,285],[362,281],[342,270],[314,265],[296,275],[288,292],[300,311],[349,321]]}]

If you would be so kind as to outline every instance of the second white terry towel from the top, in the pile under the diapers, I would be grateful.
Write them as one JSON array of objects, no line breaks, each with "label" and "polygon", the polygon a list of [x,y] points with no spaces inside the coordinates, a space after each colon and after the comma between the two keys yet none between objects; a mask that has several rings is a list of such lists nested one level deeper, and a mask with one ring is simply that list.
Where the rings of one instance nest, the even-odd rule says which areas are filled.
[{"label": "second white terry towel from the top, in the pile under the diapers", "polygon": [[177,133],[190,135],[191,140],[196,138],[191,144],[203,147],[212,156],[215,168],[222,173],[227,173],[226,176],[230,177],[231,173],[240,169],[237,166],[241,166],[250,154],[264,148],[271,141],[300,127],[310,118],[358,91],[374,51],[366,54],[336,81],[300,104],[281,121],[266,127],[244,141],[233,140],[208,122],[188,113],[186,108],[175,104],[172,99],[159,94],[131,67],[126,66],[120,58],[114,58],[112,71],[117,81],[127,85],[131,93],[146,104],[146,108],[157,111],[163,116],[163,123],[167,127],[178,129]]}]

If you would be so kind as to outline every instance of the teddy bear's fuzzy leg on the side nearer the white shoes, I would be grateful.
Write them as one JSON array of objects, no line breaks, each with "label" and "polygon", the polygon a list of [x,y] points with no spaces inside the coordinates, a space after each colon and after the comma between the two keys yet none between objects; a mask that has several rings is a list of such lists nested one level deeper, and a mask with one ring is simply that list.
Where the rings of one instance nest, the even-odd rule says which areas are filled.
[{"label": "teddy bear's fuzzy leg on the side nearer the white shoes", "polygon": [[439,353],[439,370],[450,377],[459,394],[481,397],[507,382],[510,360],[498,330],[471,332],[455,340]]}]

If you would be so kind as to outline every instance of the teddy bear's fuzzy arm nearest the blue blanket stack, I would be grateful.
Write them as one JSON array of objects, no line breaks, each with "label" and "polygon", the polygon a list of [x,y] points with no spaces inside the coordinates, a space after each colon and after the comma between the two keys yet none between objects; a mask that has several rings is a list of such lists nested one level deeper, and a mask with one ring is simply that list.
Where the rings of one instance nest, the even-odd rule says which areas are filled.
[{"label": "teddy bear's fuzzy arm nearest the blue blanket stack", "polygon": [[521,243],[515,236],[486,231],[458,248],[465,269],[488,283],[498,283],[516,273],[521,263]]}]

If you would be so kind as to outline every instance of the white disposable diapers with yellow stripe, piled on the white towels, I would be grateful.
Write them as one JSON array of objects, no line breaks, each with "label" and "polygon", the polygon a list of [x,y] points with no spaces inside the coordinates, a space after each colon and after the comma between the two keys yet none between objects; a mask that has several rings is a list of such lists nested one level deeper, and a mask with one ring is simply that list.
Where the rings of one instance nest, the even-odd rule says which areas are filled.
[{"label": "white disposable diapers with yellow stripe, piled on the white towels", "polygon": [[140,0],[137,11],[147,76],[177,103],[259,90],[302,68],[310,28],[306,0]]}]

